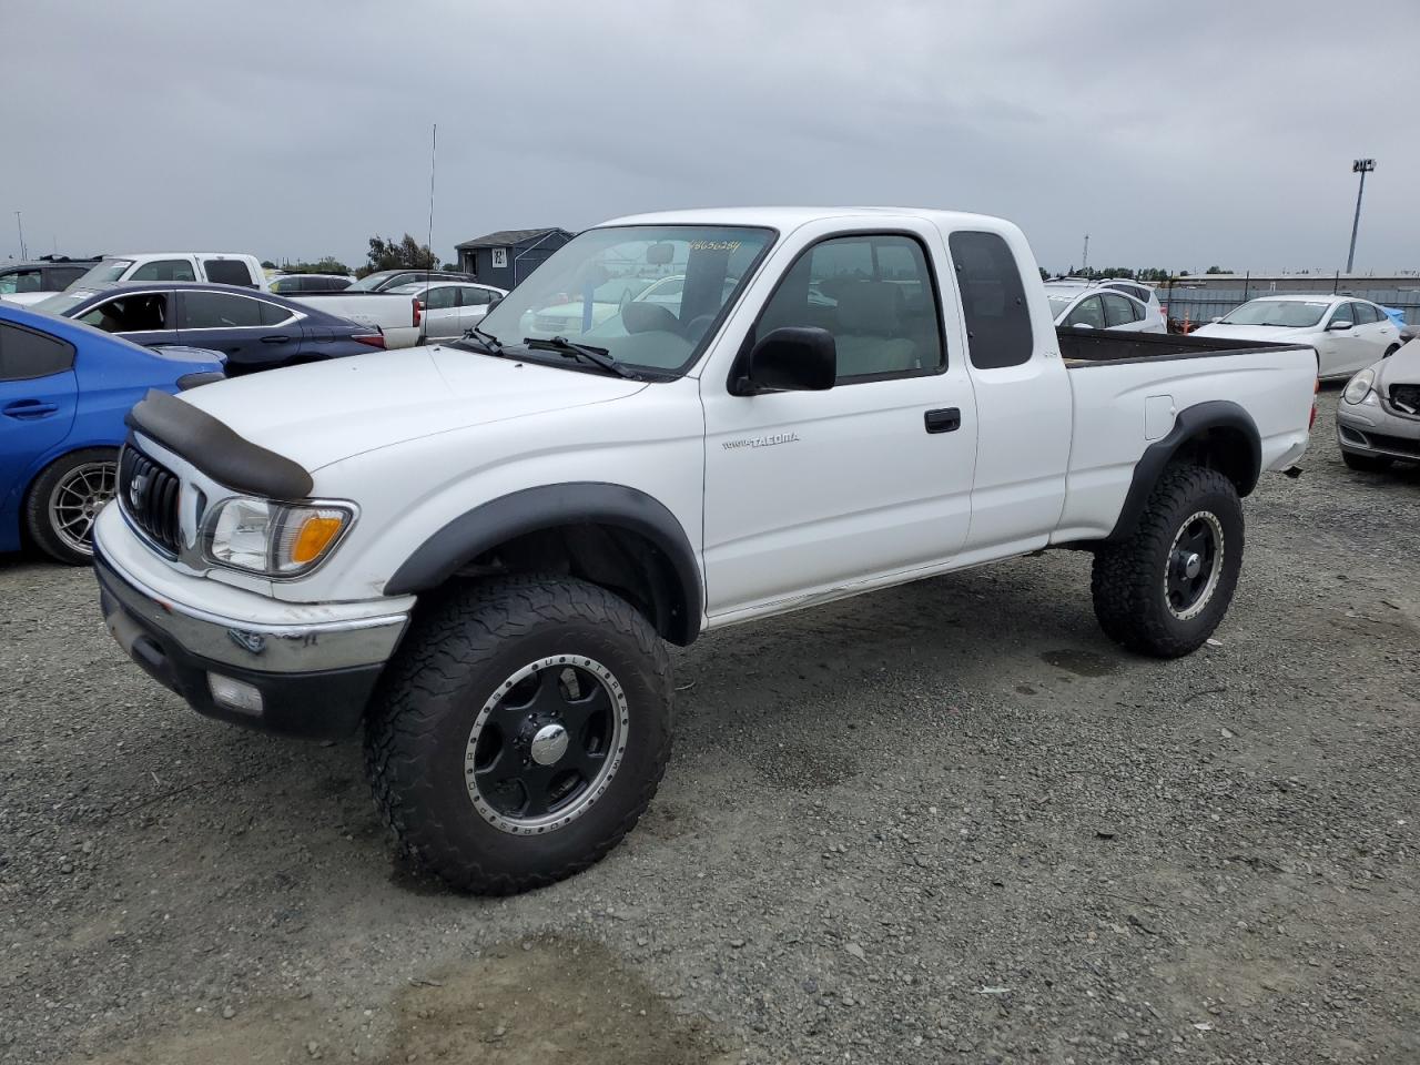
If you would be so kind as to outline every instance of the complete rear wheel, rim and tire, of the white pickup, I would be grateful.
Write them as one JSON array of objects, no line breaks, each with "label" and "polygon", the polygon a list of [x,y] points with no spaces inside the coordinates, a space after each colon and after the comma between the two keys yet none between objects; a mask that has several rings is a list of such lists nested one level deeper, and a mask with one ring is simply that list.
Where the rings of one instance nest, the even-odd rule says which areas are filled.
[{"label": "complete rear wheel, rim and tire, of the white pickup", "polygon": [[1217,470],[1172,466],[1133,534],[1095,554],[1091,594],[1105,633],[1140,655],[1197,650],[1227,613],[1242,565],[1242,503]]}]

